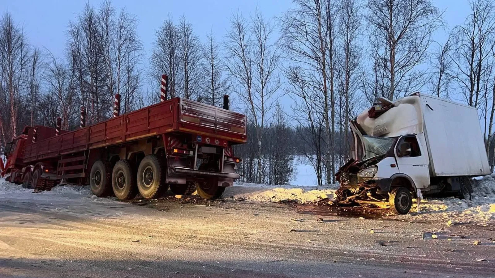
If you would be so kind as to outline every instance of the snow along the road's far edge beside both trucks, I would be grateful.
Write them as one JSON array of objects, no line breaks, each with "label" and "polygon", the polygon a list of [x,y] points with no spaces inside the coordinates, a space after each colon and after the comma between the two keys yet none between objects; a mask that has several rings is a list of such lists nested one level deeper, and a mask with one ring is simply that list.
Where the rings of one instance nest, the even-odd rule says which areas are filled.
[{"label": "snow along the road's far edge beside both trucks", "polygon": [[[232,187],[227,187],[223,197],[255,202],[293,200],[298,203],[314,203],[325,198],[332,199],[335,189],[337,189],[335,186],[273,186],[237,183]],[[446,221],[447,219],[455,222],[474,221],[481,224],[495,222],[495,174],[473,181],[473,190],[472,201],[461,200],[456,197],[425,198],[421,201],[422,214],[415,213],[416,203],[414,203],[408,217],[444,218]],[[53,197],[88,198],[93,201],[117,202],[114,199],[93,196],[88,186],[55,186],[51,191],[33,193],[32,189],[7,183],[4,179],[0,179],[0,196],[3,198],[47,200]]]}]

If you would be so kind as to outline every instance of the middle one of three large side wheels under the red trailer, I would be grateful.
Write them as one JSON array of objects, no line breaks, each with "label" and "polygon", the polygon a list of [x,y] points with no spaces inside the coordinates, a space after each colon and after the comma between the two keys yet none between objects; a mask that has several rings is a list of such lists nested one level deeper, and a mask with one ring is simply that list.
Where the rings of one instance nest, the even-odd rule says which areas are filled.
[{"label": "middle one of three large side wheels under the red trailer", "polygon": [[112,171],[113,193],[120,200],[129,200],[136,197],[136,179],[128,160],[119,160]]}]

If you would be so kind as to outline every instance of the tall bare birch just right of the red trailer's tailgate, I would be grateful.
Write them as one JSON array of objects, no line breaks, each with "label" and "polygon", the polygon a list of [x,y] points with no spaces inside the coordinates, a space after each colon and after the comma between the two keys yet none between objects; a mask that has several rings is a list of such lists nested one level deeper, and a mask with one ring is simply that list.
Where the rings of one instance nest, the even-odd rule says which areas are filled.
[{"label": "tall bare birch just right of the red trailer's tailgate", "polygon": [[274,36],[274,25],[256,11],[250,21],[240,14],[233,15],[225,37],[227,70],[236,83],[234,90],[246,105],[255,126],[256,141],[252,141],[252,147],[257,183],[263,183],[267,178],[262,142],[270,111],[274,108],[273,98],[281,86],[277,74],[280,56]]}]

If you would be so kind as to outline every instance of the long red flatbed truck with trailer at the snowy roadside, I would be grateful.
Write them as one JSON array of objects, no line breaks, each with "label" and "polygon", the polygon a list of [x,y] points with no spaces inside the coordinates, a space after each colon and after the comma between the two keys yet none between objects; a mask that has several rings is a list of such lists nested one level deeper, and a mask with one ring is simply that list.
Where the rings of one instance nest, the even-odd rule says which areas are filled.
[{"label": "long red flatbed truck with trailer at the snowy roadside", "polygon": [[246,116],[227,109],[176,97],[74,131],[26,127],[7,148],[2,176],[39,190],[90,184],[121,200],[169,187],[217,198],[239,178],[233,145],[247,141]]}]

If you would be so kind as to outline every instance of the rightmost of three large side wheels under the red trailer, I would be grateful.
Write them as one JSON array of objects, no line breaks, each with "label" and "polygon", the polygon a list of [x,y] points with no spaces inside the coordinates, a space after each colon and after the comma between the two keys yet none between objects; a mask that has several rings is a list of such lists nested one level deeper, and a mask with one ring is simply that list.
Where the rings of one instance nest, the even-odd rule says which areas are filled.
[{"label": "rightmost of three large side wheels under the red trailer", "polygon": [[145,156],[138,167],[137,184],[141,196],[152,199],[167,191],[165,184],[165,167],[154,154]]}]

